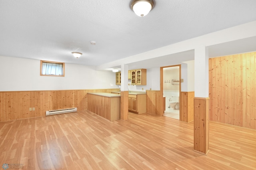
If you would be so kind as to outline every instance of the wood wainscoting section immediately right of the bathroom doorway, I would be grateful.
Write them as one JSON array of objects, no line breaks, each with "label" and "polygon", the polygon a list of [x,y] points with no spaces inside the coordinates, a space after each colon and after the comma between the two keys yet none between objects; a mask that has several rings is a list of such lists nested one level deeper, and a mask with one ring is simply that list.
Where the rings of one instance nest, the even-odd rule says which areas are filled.
[{"label": "wood wainscoting section immediately right of the bathroom doorway", "polygon": [[180,92],[180,121],[191,122],[194,120],[194,91]]}]

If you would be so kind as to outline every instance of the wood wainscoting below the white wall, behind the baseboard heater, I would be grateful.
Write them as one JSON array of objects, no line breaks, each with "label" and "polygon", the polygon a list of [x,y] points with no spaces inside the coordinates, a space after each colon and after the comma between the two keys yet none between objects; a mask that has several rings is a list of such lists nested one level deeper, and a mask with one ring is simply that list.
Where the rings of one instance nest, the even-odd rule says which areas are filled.
[{"label": "wood wainscoting below the white wall, behind the baseboard heater", "polygon": [[[46,111],[77,107],[87,110],[87,93],[119,91],[119,89],[2,91],[0,92],[0,121],[45,116]],[[35,111],[29,111],[34,107]]]}]

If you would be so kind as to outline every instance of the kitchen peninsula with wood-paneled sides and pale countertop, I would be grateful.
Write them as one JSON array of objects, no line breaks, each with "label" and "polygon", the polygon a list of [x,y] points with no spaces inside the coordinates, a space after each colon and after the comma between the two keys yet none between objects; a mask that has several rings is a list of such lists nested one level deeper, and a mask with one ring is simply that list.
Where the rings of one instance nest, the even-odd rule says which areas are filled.
[{"label": "kitchen peninsula with wood-paneled sides and pale countertop", "polygon": [[109,121],[120,119],[120,95],[112,93],[87,93],[88,111]]}]

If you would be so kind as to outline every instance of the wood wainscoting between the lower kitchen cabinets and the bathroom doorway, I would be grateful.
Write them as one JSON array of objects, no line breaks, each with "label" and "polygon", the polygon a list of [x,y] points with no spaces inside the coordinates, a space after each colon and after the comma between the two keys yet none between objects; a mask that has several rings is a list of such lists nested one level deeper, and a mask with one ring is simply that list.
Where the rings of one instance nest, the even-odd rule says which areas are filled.
[{"label": "wood wainscoting between the lower kitchen cabinets and the bathroom doorway", "polygon": [[146,104],[147,113],[162,116],[162,103],[163,96],[160,91],[157,90],[146,90]]}]

